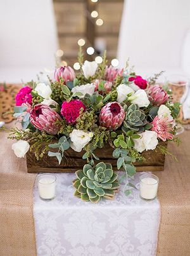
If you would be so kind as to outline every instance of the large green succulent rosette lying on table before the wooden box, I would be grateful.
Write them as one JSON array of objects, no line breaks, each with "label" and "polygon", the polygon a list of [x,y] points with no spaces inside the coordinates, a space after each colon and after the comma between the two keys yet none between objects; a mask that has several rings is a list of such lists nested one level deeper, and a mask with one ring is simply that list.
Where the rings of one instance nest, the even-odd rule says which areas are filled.
[{"label": "large green succulent rosette lying on table before the wooden box", "polygon": [[84,201],[98,203],[100,198],[113,199],[118,192],[118,175],[113,172],[110,163],[98,163],[96,166],[84,165],[83,170],[76,172],[73,180],[75,196]]}]

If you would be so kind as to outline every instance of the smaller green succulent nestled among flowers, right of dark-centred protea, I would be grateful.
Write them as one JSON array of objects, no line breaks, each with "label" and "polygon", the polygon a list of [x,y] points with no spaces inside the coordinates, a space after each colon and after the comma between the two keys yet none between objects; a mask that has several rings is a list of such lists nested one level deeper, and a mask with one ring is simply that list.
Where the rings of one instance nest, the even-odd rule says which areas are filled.
[{"label": "smaller green succulent nestled among flowers, right of dark-centred protea", "polygon": [[122,130],[125,132],[129,130],[143,132],[145,130],[144,126],[148,123],[144,111],[139,109],[137,104],[131,104],[129,107],[125,105],[124,109],[125,119]]}]

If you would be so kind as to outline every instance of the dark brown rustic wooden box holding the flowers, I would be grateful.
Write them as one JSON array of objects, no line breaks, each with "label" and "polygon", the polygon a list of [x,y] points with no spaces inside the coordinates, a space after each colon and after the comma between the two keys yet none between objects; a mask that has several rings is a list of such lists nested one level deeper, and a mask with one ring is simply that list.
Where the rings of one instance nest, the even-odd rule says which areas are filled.
[{"label": "dark brown rustic wooden box holding the flowers", "polygon": [[[167,145],[164,142],[162,145]],[[96,149],[96,156],[99,156],[100,161],[105,163],[111,163],[114,170],[117,170],[117,159],[112,156],[113,148],[110,145],[105,145],[103,149]],[[58,164],[58,160],[55,157],[49,157],[47,155],[44,158],[37,161],[33,152],[27,152],[27,170],[29,173],[39,172],[75,172],[85,165],[86,161],[82,159],[84,152],[75,152],[72,149],[64,152],[64,158],[61,164]],[[137,171],[163,171],[165,163],[165,155],[160,151],[145,151],[143,152],[146,161],[143,163],[136,162],[135,166]]]}]

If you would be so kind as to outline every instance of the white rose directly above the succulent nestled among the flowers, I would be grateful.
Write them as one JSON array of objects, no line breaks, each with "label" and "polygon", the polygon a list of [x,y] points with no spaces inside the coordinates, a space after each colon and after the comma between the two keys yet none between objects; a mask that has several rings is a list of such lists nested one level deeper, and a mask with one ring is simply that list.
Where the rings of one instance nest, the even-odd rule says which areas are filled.
[{"label": "white rose directly above the succulent nestled among the flowers", "polygon": [[132,97],[129,98],[131,103],[137,104],[139,107],[148,107],[149,99],[146,91],[139,89]]}]

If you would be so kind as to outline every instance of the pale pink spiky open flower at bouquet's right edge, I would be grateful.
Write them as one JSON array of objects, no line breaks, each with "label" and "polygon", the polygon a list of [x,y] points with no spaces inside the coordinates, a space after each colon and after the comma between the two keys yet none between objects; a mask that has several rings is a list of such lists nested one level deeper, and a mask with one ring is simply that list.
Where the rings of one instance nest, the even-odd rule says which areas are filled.
[{"label": "pale pink spiky open flower at bouquet's right edge", "polygon": [[174,138],[172,134],[174,130],[174,120],[164,116],[155,116],[151,125],[151,130],[156,131],[158,138],[161,138],[161,140],[166,141]]}]

